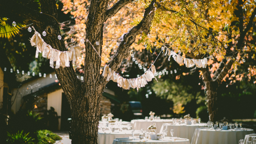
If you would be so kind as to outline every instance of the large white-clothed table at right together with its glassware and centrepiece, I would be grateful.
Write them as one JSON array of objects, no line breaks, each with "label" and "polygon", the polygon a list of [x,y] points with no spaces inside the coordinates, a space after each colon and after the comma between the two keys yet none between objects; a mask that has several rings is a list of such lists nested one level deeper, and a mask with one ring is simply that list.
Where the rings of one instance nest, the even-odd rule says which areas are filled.
[{"label": "large white-clothed table at right together with its glassware and centrepiece", "polygon": [[253,129],[242,128],[241,122],[228,123],[225,118],[222,123],[208,122],[207,125],[207,128],[196,128],[191,144],[247,144],[244,143],[244,138],[254,133]]}]

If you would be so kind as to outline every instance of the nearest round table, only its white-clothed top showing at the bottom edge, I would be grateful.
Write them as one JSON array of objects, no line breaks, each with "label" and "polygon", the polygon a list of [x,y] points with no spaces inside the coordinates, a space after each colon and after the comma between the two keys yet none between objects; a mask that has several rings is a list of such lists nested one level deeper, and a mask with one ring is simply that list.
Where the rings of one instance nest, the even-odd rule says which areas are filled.
[{"label": "nearest round table, only its white-clothed top showing at the bottom edge", "polygon": [[164,140],[151,140],[148,139],[147,142],[139,142],[138,138],[134,140],[127,140],[127,141],[119,141],[118,139],[114,139],[112,144],[190,144],[190,141],[187,140],[175,140],[175,142],[169,142]]}]

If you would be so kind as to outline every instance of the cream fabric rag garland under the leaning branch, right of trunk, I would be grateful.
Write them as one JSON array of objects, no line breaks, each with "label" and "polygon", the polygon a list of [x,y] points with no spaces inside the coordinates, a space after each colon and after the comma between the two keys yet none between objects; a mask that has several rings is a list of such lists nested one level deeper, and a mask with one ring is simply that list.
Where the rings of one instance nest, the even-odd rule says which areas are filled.
[{"label": "cream fabric rag garland under the leaning branch, right of trunk", "polygon": [[[151,70],[155,70],[155,66],[153,64],[151,65]],[[140,87],[144,87],[146,84],[148,84],[148,81],[151,81],[153,78],[155,78],[151,70],[146,71],[146,73],[136,79],[126,79],[122,76],[119,76],[118,73],[114,71],[112,73],[109,66],[105,65],[102,76],[107,77],[107,81],[111,79],[112,81],[117,82],[117,85],[125,90],[130,89],[130,87],[133,89],[137,88],[137,90],[139,90]],[[154,72],[156,73],[156,71]]]}]

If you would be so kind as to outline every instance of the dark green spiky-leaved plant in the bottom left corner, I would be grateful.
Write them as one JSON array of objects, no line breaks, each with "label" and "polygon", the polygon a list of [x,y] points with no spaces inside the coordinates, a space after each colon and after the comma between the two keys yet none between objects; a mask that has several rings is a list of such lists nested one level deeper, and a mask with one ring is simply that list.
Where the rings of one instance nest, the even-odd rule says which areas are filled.
[{"label": "dark green spiky-leaved plant in the bottom left corner", "polygon": [[31,137],[28,137],[29,133],[25,133],[24,135],[22,135],[23,130],[21,131],[21,133],[16,133],[16,134],[10,134],[7,132],[7,144],[34,144],[33,140],[31,139]]}]

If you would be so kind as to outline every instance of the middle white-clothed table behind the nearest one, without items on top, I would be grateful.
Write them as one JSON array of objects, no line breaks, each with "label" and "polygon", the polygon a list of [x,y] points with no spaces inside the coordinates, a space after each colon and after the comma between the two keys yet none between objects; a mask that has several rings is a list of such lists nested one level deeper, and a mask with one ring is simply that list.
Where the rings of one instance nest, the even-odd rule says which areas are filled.
[{"label": "middle white-clothed table behind the nearest one, without items on top", "polygon": [[162,130],[167,128],[167,137],[171,137],[170,130],[174,130],[174,137],[180,137],[180,138],[186,138],[191,140],[194,135],[194,131],[196,128],[207,126],[206,123],[197,123],[197,124],[170,124],[170,123],[164,123],[161,127],[160,132]]}]

